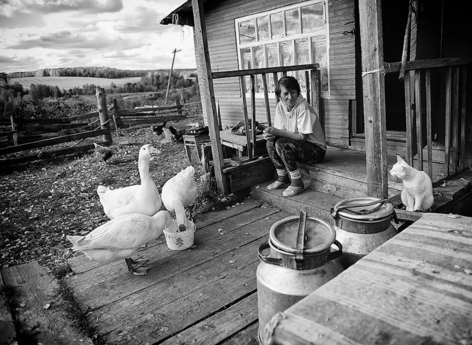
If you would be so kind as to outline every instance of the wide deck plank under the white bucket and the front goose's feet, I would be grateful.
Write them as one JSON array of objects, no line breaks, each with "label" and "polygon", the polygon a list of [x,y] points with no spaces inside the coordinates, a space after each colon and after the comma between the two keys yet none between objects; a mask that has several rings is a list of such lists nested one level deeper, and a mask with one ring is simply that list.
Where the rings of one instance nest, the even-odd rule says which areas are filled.
[{"label": "wide deck plank under the white bucket and the front goose's feet", "polygon": [[[144,249],[139,254],[150,260],[146,265],[150,270],[142,279],[126,273],[126,265],[119,261],[72,276],[68,281],[73,285],[74,292],[80,295],[82,303],[92,306],[93,301],[99,300],[101,305],[107,304],[171,277],[180,270],[231,251],[235,248],[235,243],[242,245],[245,241],[254,240],[253,236],[258,234],[258,226],[266,226],[264,230],[268,233],[269,224],[273,222],[271,215],[277,212],[279,211],[273,207],[253,208],[237,217],[197,229],[194,235],[197,247],[193,249],[172,251],[165,243]],[[266,217],[269,219],[265,219]],[[219,228],[223,229],[225,236],[220,234]],[[244,235],[246,232],[248,234]],[[216,247],[220,248],[219,251]]]}]

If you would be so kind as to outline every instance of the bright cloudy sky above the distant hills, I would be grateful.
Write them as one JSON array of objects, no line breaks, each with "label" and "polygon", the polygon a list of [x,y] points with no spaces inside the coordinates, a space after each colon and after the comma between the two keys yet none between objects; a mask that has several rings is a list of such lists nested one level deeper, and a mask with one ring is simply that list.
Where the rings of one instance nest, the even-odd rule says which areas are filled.
[{"label": "bright cloudy sky above the distant hills", "polygon": [[195,68],[193,30],[160,25],[185,0],[0,0],[0,71]]}]

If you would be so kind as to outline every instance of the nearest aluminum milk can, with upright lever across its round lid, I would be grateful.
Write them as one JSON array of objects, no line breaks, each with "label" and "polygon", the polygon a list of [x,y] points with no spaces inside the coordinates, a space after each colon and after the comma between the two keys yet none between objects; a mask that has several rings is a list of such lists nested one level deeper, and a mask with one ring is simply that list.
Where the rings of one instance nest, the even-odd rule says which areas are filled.
[{"label": "nearest aluminum milk can, with upright lever across its round lid", "polygon": [[[256,272],[260,344],[266,345],[264,327],[272,316],[342,272],[342,266],[334,260],[342,255],[335,236],[330,224],[307,217],[306,212],[271,226],[268,243],[259,246],[261,262]],[[338,250],[331,253],[331,245]],[[265,253],[267,249],[270,254]]]}]

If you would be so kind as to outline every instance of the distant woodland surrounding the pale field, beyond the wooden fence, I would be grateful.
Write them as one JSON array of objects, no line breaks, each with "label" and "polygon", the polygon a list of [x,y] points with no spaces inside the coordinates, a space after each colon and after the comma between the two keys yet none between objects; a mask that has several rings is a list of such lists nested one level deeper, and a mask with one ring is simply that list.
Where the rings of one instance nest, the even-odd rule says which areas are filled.
[{"label": "distant woodland surrounding the pale field, beyond the wooden fence", "polygon": [[[30,74],[29,74],[30,73]],[[14,75],[14,76],[12,76]],[[79,76],[79,77],[101,77],[120,78],[141,76],[138,82],[129,82],[117,87],[110,82],[105,87],[108,94],[135,93],[152,91],[149,101],[162,101],[167,88],[169,70],[121,70],[106,67],[78,67],[60,69],[38,69],[33,72],[1,73],[0,78],[0,119],[15,117],[43,117],[44,107],[50,102],[66,100],[79,95],[95,94],[96,86],[85,84],[81,88],[74,87],[68,90],[60,89],[58,86],[46,84],[31,84],[29,88],[15,82],[15,77],[28,76]],[[195,102],[200,100],[196,69],[174,69],[172,71],[169,99],[179,99],[181,103]],[[141,104],[132,104],[138,106]]]}]

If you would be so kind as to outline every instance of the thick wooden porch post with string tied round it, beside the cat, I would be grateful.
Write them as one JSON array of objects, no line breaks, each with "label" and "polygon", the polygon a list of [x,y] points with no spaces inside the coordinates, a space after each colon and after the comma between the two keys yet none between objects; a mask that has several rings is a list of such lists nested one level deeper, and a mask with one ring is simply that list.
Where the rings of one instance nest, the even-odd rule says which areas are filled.
[{"label": "thick wooden porch post with string tied round it, beside the cat", "polygon": [[359,0],[367,194],[388,198],[381,0]]}]

